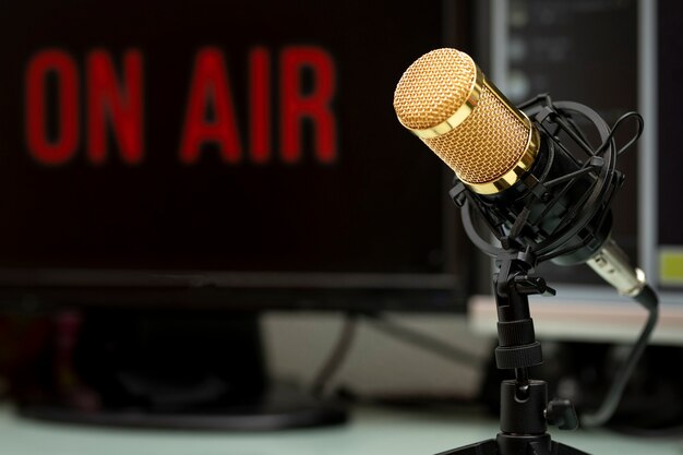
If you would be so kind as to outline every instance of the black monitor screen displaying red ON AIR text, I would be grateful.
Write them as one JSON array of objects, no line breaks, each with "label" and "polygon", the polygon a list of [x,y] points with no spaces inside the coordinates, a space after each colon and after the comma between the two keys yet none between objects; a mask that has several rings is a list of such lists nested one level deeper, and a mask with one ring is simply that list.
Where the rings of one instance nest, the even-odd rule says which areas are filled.
[{"label": "black monitor screen displaying red ON AIR text", "polygon": [[5,3],[3,280],[203,271],[457,287],[443,165],[392,108],[405,68],[442,46],[443,12]]}]

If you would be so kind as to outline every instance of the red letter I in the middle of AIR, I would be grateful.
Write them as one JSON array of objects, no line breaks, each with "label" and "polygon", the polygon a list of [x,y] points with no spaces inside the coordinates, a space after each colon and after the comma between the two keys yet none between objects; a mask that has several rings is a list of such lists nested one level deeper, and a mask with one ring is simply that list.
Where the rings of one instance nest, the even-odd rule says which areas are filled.
[{"label": "red letter I in the middle of AIR", "polygon": [[271,157],[271,61],[264,48],[249,56],[249,117],[251,159],[263,164]]}]

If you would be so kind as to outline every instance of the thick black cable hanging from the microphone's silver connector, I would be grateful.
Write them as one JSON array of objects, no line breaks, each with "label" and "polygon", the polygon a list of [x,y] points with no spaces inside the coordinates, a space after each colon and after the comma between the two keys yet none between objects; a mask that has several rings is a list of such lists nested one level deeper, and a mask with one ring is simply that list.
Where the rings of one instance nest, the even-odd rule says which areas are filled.
[{"label": "thick black cable hanging from the microphone's silver connector", "polygon": [[655,325],[657,325],[657,319],[659,318],[659,304],[655,291],[649,286],[646,286],[643,291],[635,297],[635,300],[649,310],[649,315],[645,326],[640,332],[640,336],[633,345],[633,348],[631,348],[628,357],[619,368],[616,375],[614,376],[614,381],[612,382],[612,385],[610,386],[610,390],[608,391],[600,407],[594,412],[584,414],[582,416],[580,421],[584,427],[600,427],[612,418],[619,403],[621,402],[624,390],[628,384],[628,380],[631,379],[631,375],[633,374],[633,371],[635,370],[638,360],[640,360],[643,351],[650,339]]}]

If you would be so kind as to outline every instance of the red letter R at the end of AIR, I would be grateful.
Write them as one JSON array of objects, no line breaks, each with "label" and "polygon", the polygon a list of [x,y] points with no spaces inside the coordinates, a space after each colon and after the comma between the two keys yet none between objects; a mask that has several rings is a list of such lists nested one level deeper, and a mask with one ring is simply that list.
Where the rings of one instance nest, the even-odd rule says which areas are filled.
[{"label": "red letter R at the end of AIR", "polygon": [[[313,74],[313,88],[303,94],[304,68]],[[281,154],[286,163],[301,157],[301,122],[309,118],[315,125],[315,156],[321,163],[337,157],[336,122],[329,107],[335,92],[335,69],[329,55],[317,47],[291,47],[281,55]]]}]

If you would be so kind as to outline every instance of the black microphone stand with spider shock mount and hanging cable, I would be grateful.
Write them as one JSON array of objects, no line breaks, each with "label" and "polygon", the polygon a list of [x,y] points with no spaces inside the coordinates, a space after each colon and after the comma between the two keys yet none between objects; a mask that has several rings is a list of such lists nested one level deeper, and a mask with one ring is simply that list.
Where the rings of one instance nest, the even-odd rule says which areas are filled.
[{"label": "black microphone stand with spider shock mount and hanging cable", "polygon": [[[517,207],[515,211],[496,209],[495,204],[479,200],[466,191],[462,181],[456,180],[455,187],[450,191],[451,197],[462,209],[463,227],[467,236],[479,250],[494,258],[499,265],[499,272],[493,275],[499,337],[495,363],[501,370],[514,370],[515,379],[503,381],[501,384],[501,432],[498,436],[439,455],[587,455],[585,452],[552,441],[547,432],[549,424],[561,430],[574,430],[578,427],[578,418],[574,406],[567,399],[548,402],[548,384],[544,381],[529,379],[529,368],[542,363],[543,359],[541,345],[536,340],[534,332],[528,297],[555,294],[543,278],[532,275],[538,263],[563,254],[574,254],[591,241],[599,239],[604,241],[609,237],[611,219],[608,208],[614,192],[623,181],[623,176],[614,167],[616,158],[638,139],[643,119],[635,112],[628,112],[610,129],[592,109],[570,101],[553,104],[548,95],[539,95],[520,108],[529,110],[529,116],[535,119],[547,139],[549,159],[547,166],[552,167],[553,159],[562,156],[560,161],[575,163],[582,168],[560,177],[549,177],[550,167],[548,167],[548,170],[535,177],[538,178],[537,182],[528,187],[528,197],[524,196],[523,201],[524,207]],[[584,133],[572,120],[572,112],[580,115],[596,127],[602,145],[594,148],[588,144]],[[631,117],[638,121],[637,132],[618,151],[614,132]],[[575,157],[566,145],[559,141],[560,131],[570,136],[571,141],[567,144],[573,142],[587,154],[587,159]],[[562,166],[559,170],[562,170]],[[585,180],[590,183],[589,190],[577,197],[566,213],[549,215],[562,216],[562,220],[547,238],[539,242],[532,236],[530,240],[520,236],[525,228],[529,228],[530,232],[539,228],[539,219],[529,218],[532,212],[539,212],[540,207],[542,214],[549,213],[548,211],[564,197],[577,179],[584,179],[587,173],[591,175]],[[560,188],[560,184],[564,187]],[[552,188],[554,190],[548,192]],[[544,200],[548,194],[551,199]],[[541,205],[535,205],[536,201],[541,201]],[[489,235],[493,234],[502,248],[492,244],[490,238],[478,232],[472,219],[475,213],[481,215],[480,220],[488,225]],[[505,225],[508,225],[507,230],[502,228]],[[650,315],[628,359],[620,369],[620,379],[612,384],[603,405],[598,412],[587,416],[592,426],[609,419],[616,407],[626,381],[657,322],[656,292],[649,286],[645,286],[638,295],[632,297],[644,306]],[[586,423],[586,418],[584,422]]]}]

